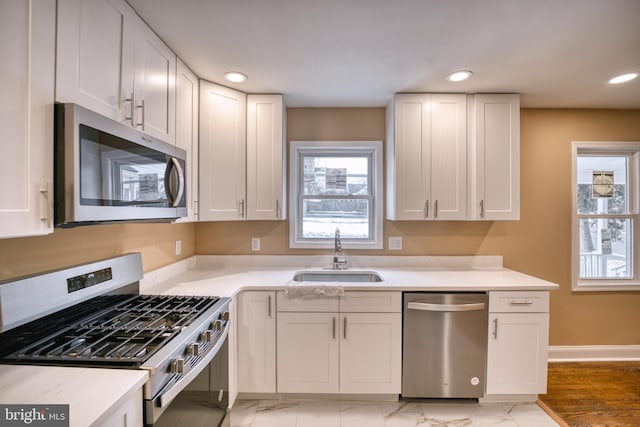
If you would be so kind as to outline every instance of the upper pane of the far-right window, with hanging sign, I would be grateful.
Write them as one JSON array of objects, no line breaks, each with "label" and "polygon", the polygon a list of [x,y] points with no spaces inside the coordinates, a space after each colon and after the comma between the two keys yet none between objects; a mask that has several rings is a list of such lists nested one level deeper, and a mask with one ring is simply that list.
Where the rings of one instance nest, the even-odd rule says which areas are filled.
[{"label": "upper pane of the far-right window, with hanging sign", "polygon": [[578,213],[628,213],[626,156],[579,156],[577,164]]}]

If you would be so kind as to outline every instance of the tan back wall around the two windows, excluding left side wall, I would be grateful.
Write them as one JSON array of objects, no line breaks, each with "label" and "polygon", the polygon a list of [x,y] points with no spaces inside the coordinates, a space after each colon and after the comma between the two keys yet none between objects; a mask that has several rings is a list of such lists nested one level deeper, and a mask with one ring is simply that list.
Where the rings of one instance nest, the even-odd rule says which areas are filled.
[{"label": "tan back wall around the two windows, excluding left side wall", "polygon": [[[289,109],[289,140],[384,140],[384,109]],[[640,292],[571,292],[571,141],[640,140],[639,110],[522,110],[521,219],[507,222],[391,222],[402,251],[388,255],[502,255],[508,268],[555,283],[551,345],[640,344]],[[196,225],[196,253],[320,253],[288,248],[288,222]],[[386,244],[385,244],[386,246]],[[351,251],[351,253],[357,253]]]}]

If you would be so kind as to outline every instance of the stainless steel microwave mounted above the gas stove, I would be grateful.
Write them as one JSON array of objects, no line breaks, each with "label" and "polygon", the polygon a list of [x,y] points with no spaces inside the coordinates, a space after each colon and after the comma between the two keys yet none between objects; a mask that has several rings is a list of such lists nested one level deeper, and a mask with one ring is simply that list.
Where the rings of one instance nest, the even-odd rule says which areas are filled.
[{"label": "stainless steel microwave mounted above the gas stove", "polygon": [[55,108],[55,224],[187,215],[186,153],[76,104]]}]

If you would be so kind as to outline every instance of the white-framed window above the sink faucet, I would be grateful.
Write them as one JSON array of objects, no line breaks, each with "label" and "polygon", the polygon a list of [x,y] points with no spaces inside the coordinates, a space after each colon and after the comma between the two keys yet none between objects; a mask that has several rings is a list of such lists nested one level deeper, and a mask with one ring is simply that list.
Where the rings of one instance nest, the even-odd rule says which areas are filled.
[{"label": "white-framed window above the sink faucet", "polygon": [[289,246],[382,248],[382,142],[291,141]]}]

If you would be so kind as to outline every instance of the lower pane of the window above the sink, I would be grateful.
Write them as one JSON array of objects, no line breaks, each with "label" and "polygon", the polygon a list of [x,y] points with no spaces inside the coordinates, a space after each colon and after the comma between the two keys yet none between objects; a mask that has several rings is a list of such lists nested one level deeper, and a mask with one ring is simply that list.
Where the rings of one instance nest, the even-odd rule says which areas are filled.
[{"label": "lower pane of the window above the sink", "polygon": [[336,228],[343,238],[367,239],[369,200],[306,199],[302,202],[302,237],[333,238]]}]

